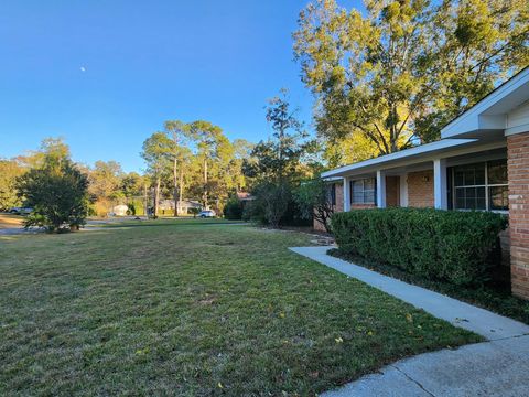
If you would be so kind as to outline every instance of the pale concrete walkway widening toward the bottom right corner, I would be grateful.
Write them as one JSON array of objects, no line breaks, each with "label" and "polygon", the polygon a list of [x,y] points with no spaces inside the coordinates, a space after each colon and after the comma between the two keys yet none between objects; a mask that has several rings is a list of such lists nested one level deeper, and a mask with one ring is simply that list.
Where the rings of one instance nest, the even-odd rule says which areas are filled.
[{"label": "pale concrete walkway widening toward the bottom right corner", "polygon": [[294,247],[294,253],[397,297],[489,342],[399,361],[325,397],[529,396],[529,326],[438,292],[412,286],[326,255],[333,247]]}]

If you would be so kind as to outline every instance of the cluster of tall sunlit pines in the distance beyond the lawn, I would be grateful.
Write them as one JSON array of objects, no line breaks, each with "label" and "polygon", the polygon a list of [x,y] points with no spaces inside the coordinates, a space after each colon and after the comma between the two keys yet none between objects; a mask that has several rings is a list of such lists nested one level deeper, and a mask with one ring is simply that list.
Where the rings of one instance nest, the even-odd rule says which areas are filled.
[{"label": "cluster of tall sunlit pines in the distance beyond the lawn", "polygon": [[[156,140],[158,153],[164,160],[159,170],[149,168],[154,189],[159,191],[155,195],[171,195],[175,202],[199,198],[204,207],[214,207],[220,213],[229,193],[246,187],[241,169],[252,148],[246,140],[231,142],[220,127],[206,120],[165,121]],[[144,159],[148,164],[153,163],[152,159]]]}]

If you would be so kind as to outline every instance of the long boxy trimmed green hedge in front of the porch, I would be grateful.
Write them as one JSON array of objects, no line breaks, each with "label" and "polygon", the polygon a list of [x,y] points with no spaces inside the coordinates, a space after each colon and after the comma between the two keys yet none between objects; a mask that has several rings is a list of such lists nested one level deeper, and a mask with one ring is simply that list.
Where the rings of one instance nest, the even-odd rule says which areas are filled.
[{"label": "long boxy trimmed green hedge in front of the porch", "polygon": [[455,285],[483,281],[507,217],[432,208],[353,210],[332,216],[339,249]]}]

